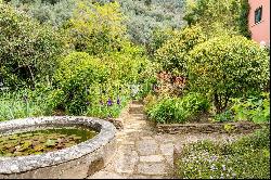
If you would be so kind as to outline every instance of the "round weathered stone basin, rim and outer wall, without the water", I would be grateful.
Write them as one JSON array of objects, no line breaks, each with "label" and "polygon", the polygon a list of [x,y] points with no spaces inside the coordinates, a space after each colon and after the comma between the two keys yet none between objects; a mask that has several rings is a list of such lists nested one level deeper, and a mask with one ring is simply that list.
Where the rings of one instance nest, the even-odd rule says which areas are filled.
[{"label": "round weathered stone basin, rim and outer wall, without the water", "polygon": [[50,116],[0,123],[0,134],[48,127],[83,126],[98,131],[77,145],[44,154],[0,157],[0,179],[86,178],[102,169],[116,150],[116,128],[93,117]]}]

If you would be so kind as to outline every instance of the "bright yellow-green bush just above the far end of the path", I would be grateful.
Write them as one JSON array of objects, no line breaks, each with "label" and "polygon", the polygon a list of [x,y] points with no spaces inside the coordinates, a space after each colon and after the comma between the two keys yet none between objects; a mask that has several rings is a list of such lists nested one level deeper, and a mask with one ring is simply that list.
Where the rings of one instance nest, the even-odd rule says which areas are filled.
[{"label": "bright yellow-green bush just above the far end of the path", "polygon": [[155,66],[141,47],[124,43],[121,51],[103,55],[101,60],[111,70],[111,80],[126,85],[129,89],[138,87],[134,99],[142,99],[152,90]]}]

